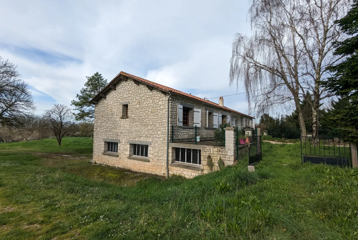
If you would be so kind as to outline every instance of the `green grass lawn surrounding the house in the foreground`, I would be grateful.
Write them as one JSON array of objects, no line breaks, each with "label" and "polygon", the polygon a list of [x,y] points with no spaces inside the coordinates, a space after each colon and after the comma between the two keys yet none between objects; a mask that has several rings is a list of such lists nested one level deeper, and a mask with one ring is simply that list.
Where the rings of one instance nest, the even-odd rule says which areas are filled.
[{"label": "green grass lawn surrounding the house in the foreground", "polygon": [[2,143],[0,239],[358,239],[358,171],[301,165],[299,146],[166,180],[91,165],[89,138]]}]

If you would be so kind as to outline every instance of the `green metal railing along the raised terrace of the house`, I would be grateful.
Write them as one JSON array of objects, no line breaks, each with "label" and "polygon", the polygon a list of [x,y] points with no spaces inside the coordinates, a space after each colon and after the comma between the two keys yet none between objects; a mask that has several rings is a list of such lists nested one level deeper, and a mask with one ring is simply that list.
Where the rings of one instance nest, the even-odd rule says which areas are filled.
[{"label": "green metal railing along the raised terrace of the house", "polygon": [[171,126],[170,141],[195,144],[225,146],[225,130],[221,128]]}]

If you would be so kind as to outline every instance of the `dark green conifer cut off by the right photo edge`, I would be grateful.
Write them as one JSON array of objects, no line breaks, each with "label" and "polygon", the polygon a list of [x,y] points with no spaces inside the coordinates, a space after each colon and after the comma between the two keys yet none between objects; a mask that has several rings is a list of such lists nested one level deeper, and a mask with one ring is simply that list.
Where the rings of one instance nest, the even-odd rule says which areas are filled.
[{"label": "dark green conifer cut off by the right photo edge", "polygon": [[358,0],[353,1],[347,15],[337,23],[348,38],[335,44],[334,54],[345,59],[342,63],[330,67],[334,75],[324,85],[328,86],[331,92],[349,101],[350,104],[334,118],[343,124],[345,139],[358,142]]}]

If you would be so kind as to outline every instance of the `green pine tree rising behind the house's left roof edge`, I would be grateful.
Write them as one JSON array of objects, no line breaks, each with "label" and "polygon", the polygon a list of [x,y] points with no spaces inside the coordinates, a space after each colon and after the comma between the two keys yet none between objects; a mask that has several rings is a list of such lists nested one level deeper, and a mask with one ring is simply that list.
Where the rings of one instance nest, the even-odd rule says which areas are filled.
[{"label": "green pine tree rising behind the house's left roof edge", "polygon": [[95,107],[93,104],[89,104],[89,101],[106,87],[107,79],[104,79],[102,74],[98,72],[86,78],[87,82],[84,84],[84,88],[80,90],[81,94],[76,95],[78,101],[72,100],[71,105],[76,107],[73,110],[78,111],[75,114],[76,121],[92,122],[95,118]]}]

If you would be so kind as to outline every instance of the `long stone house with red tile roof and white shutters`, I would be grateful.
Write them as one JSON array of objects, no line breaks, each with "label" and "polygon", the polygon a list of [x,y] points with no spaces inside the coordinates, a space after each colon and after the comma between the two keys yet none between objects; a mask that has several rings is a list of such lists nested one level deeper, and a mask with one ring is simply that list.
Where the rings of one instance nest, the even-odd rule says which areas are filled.
[{"label": "long stone house with red tile roof and white shutters", "polygon": [[[91,103],[95,104],[93,161],[156,175],[195,177],[207,173],[210,155],[226,165],[236,160],[236,127],[255,126],[254,118],[173,88],[120,72]],[[206,144],[222,122],[225,146]],[[202,141],[194,144],[194,131]],[[197,135],[195,135],[197,137]]]}]

